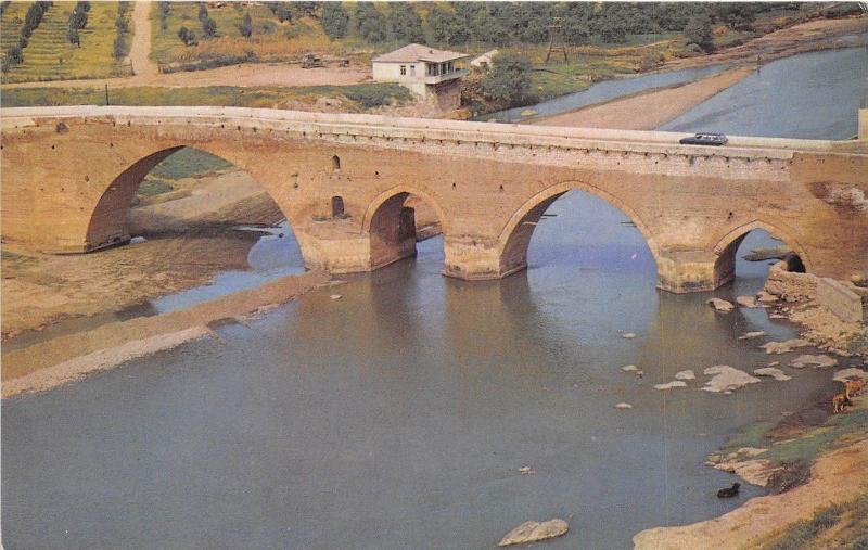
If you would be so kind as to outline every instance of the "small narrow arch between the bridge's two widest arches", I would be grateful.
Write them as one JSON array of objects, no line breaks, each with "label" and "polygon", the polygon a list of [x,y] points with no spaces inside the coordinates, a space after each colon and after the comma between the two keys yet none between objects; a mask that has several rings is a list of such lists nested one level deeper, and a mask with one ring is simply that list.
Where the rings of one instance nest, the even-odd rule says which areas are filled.
[{"label": "small narrow arch between the bridge's two widest arches", "polygon": [[416,186],[390,188],[371,201],[362,218],[362,231],[369,238],[371,269],[416,255],[416,212],[406,206],[411,196],[434,210],[444,239],[449,234],[449,217],[431,192]]}]

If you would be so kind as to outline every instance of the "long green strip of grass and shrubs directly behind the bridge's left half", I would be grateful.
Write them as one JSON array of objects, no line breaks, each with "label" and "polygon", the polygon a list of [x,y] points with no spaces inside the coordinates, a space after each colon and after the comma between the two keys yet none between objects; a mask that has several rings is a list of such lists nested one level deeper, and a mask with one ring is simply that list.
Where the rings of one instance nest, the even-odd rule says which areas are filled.
[{"label": "long green strip of grass and shrubs directly behind the bridge's left half", "polygon": [[[392,84],[307,86],[294,88],[210,86],[201,88],[130,87],[110,88],[112,105],[215,105],[237,107],[294,108],[334,98],[342,111],[359,112],[400,104],[410,92]],[[104,105],[105,92],[98,88],[9,88],[3,90],[4,107]]]}]

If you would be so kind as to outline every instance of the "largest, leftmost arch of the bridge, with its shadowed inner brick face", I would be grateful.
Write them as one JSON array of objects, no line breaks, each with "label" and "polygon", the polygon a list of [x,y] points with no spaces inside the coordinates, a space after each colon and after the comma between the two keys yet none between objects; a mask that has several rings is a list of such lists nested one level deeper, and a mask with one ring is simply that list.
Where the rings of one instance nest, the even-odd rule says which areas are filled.
[{"label": "largest, leftmost arch of the bridge, with its shadowed inner brick face", "polygon": [[[102,193],[99,195],[95,205],[92,207],[86,232],[86,248],[93,251],[105,246],[120,244],[130,239],[127,215],[132,206],[133,197],[148,174],[151,172],[159,163],[168,158],[174,153],[182,149],[194,149],[214,155],[234,167],[243,170],[248,177],[256,182],[257,187],[264,191],[280,209],[290,228],[296,233],[291,214],[286,210],[284,205],[281,205],[273,192],[268,186],[263,184],[258,179],[254,178],[245,168],[245,163],[242,158],[237,158],[234,155],[225,154],[219,148],[212,148],[207,144],[178,144],[161,149],[156,152],[146,154],[129,164],[126,169],[115,176]],[[297,233],[296,233],[297,235]],[[308,253],[302,240],[298,240],[298,245],[302,248],[302,255],[307,260]]]}]

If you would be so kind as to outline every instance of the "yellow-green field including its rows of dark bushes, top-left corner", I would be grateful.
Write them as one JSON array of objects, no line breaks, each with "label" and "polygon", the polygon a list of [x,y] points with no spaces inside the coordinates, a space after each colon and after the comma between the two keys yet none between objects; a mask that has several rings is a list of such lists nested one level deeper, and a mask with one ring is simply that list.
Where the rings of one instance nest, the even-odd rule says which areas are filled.
[{"label": "yellow-green field including its rows of dark bushes, top-left corner", "polygon": [[[42,15],[38,24],[28,26],[27,14],[35,10],[33,7],[36,5],[43,7]],[[0,16],[3,82],[105,78],[122,75],[122,60],[129,51],[132,28],[128,12],[122,13],[123,10],[119,10],[118,2],[9,4]],[[118,23],[118,17],[126,23]],[[33,15],[30,21],[35,21]],[[118,41],[118,24],[126,24],[120,41]],[[27,28],[30,28],[30,35],[25,38]],[[24,48],[21,48],[22,38],[26,41]],[[11,53],[13,55],[10,55]]]}]

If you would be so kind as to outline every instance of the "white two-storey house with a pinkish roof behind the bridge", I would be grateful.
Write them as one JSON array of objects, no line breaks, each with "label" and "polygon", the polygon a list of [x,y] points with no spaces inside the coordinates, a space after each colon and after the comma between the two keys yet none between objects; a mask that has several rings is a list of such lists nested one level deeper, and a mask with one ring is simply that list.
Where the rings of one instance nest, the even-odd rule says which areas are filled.
[{"label": "white two-storey house with a pinkish roof behind the bridge", "polygon": [[467,57],[469,55],[465,53],[411,43],[374,57],[371,62],[373,79],[378,82],[397,82],[422,97],[432,93],[442,95],[456,88],[460,78],[468,74],[468,71],[456,66],[457,61]]}]

